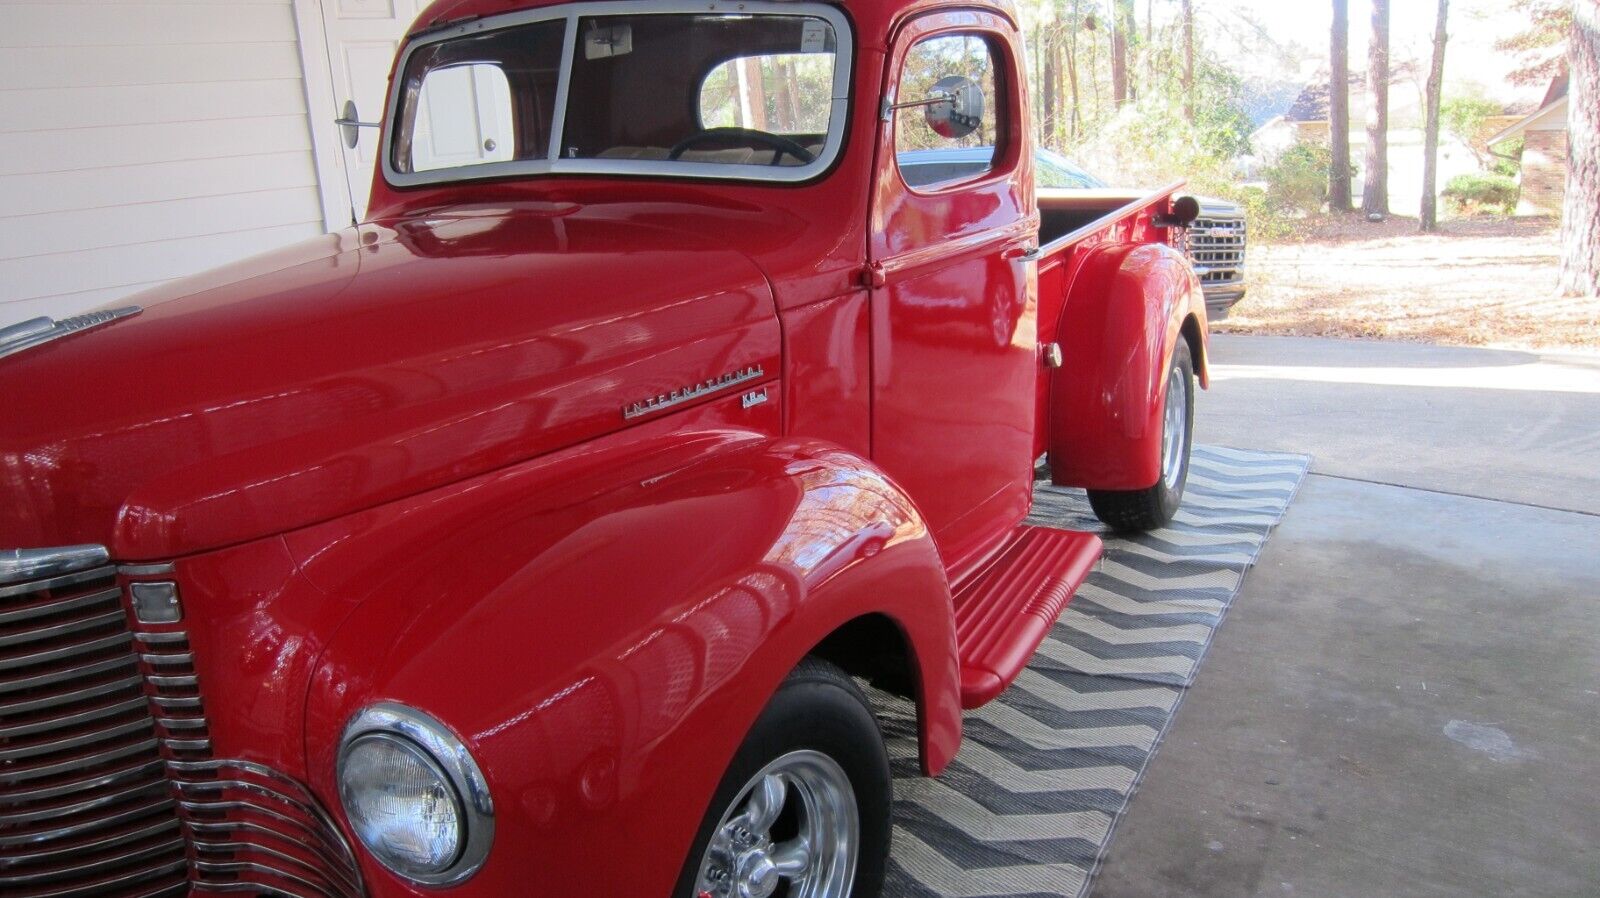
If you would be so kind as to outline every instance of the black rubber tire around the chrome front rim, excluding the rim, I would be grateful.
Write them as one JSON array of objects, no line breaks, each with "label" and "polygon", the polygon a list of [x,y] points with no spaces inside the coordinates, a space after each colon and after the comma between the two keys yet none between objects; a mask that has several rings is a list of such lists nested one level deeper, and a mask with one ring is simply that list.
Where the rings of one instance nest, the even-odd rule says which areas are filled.
[{"label": "black rubber tire around the chrome front rim, excluding the rim", "polygon": [[694,834],[674,898],[699,898],[696,879],[712,834],[750,780],[771,762],[806,749],[838,764],[854,791],[859,847],[850,898],[878,898],[890,856],[888,751],[867,696],[848,674],[821,658],[803,659],[750,727]]}]

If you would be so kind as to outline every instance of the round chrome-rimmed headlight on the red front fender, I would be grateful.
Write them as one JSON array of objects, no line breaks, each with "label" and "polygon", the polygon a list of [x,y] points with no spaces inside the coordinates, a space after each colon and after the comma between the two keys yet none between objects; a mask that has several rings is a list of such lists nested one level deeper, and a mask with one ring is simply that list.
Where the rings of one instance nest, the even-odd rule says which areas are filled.
[{"label": "round chrome-rimmed headlight on the red front fender", "polygon": [[339,802],[362,844],[427,885],[482,866],[494,808],[472,756],[442,724],[400,704],[363,709],[339,749]]}]

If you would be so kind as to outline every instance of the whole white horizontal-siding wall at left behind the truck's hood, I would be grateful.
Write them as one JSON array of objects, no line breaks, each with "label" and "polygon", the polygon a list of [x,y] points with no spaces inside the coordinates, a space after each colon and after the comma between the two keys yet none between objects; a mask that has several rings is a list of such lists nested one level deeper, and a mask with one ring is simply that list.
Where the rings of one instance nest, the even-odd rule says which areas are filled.
[{"label": "whole white horizontal-siding wall at left behind the truck's hood", "polygon": [[0,0],[0,327],[322,221],[290,0]]}]

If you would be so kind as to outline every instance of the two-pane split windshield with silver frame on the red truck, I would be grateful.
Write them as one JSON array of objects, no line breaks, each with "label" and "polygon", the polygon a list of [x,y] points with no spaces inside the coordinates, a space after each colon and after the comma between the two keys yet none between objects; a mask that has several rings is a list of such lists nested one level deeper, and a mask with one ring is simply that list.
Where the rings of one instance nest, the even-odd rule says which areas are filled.
[{"label": "two-pane split windshield with silver frame on the red truck", "polygon": [[386,176],[800,181],[837,155],[848,30],[835,10],[658,3],[584,14],[616,8],[514,13],[414,42],[395,83]]}]

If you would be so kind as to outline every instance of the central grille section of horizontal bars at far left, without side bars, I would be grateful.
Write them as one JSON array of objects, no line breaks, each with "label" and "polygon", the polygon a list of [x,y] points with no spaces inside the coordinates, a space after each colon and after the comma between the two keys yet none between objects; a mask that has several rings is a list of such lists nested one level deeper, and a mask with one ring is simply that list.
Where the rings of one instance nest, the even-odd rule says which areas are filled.
[{"label": "central grille section of horizontal bars at far left, without side bars", "polygon": [[0,893],[181,895],[187,853],[115,568],[0,586]]}]

